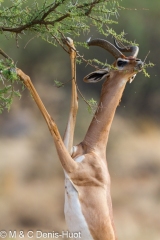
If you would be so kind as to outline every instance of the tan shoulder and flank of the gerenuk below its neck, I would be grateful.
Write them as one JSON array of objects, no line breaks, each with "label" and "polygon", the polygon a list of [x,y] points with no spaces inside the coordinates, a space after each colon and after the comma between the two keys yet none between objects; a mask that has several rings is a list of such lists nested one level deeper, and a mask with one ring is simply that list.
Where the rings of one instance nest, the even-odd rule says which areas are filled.
[{"label": "tan shoulder and flank of the gerenuk below its neck", "polygon": [[79,193],[82,212],[95,240],[116,239],[107,164],[94,152],[84,156],[78,169],[69,174]]}]

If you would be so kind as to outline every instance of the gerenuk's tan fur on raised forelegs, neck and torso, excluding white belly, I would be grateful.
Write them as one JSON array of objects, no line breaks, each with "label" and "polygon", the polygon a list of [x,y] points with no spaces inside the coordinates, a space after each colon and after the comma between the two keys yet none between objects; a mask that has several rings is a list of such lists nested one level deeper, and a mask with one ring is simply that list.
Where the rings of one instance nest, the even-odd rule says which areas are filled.
[{"label": "gerenuk's tan fur on raised forelegs, neck and torso, excluding white belly", "polygon": [[[76,192],[76,200],[78,196],[78,204],[80,202],[79,212],[80,214],[82,212],[84,216],[84,218],[80,218],[80,221],[81,219],[82,221],[85,219],[87,223],[85,226],[88,226],[91,238],[94,240],[115,240],[116,234],[113,224],[110,175],[106,161],[106,145],[114,114],[122,97],[125,85],[127,81],[140,70],[140,66],[138,66],[136,59],[132,57],[125,58],[128,60],[128,64],[123,70],[111,70],[109,74],[107,74],[107,79],[102,87],[97,111],[86,136],[75,148],[76,150],[73,151],[72,156],[70,156],[78,107],[75,87],[76,50],[71,39],[67,38],[65,41],[69,47],[73,80],[71,111],[64,136],[65,144],[54,120],[45,109],[30,78],[20,69],[17,69],[17,74],[32,94],[54,138],[62,167],[67,175],[72,191]],[[78,157],[82,157],[81,162],[76,162]],[[72,210],[71,214],[74,214]],[[78,229],[78,226],[76,227]]]}]

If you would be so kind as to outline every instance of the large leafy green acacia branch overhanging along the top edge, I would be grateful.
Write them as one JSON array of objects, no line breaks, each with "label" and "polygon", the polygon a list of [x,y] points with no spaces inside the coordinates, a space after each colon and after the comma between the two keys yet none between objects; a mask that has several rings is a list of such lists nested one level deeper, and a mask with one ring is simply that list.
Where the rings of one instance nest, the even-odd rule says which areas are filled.
[{"label": "large leafy green acacia branch overhanging along the top edge", "polygon": [[8,5],[1,4],[2,33],[9,32],[18,38],[30,30],[49,42],[60,41],[62,33],[79,36],[90,31],[91,26],[104,35],[112,34],[108,25],[117,23],[111,17],[118,15],[119,8],[116,0],[10,0]]}]

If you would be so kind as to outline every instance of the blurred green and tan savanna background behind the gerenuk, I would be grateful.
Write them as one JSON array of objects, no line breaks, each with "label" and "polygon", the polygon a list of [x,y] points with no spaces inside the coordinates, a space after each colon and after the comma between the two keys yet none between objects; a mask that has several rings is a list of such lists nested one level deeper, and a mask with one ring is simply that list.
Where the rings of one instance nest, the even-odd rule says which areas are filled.
[{"label": "blurred green and tan savanna background behind the gerenuk", "polygon": [[[160,239],[160,1],[123,0],[128,11],[119,11],[118,33],[139,44],[139,58],[155,64],[150,78],[138,74],[128,84],[112,125],[107,161],[112,180],[114,220],[119,240]],[[134,10],[134,9],[137,10]],[[130,10],[132,9],[132,10]],[[80,37],[101,37],[96,31]],[[65,130],[70,84],[54,86],[54,80],[70,80],[66,52],[27,34],[19,39],[1,36],[1,48],[31,77],[61,134]],[[111,38],[108,40],[113,41]],[[29,41],[29,42],[28,42]],[[27,44],[28,43],[28,44]],[[27,44],[27,46],[26,46]],[[78,47],[86,58],[108,63],[113,58],[104,50]],[[99,98],[102,83],[83,83],[93,71],[77,66],[77,82],[86,99]],[[92,114],[79,97],[75,144],[89,126]],[[15,99],[8,113],[0,116],[0,230],[66,230],[64,220],[64,175],[47,126],[27,90]],[[64,238],[63,238],[64,239]]]}]

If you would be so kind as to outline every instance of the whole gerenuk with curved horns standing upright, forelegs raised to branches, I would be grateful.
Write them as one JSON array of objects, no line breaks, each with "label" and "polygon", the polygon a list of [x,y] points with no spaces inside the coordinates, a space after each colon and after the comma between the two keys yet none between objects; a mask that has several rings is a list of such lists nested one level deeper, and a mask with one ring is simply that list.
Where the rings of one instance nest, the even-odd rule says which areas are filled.
[{"label": "whole gerenuk with curved horns standing upright, forelegs raised to branches", "polygon": [[[72,69],[71,110],[64,139],[57,125],[48,114],[30,78],[20,69],[17,74],[31,92],[54,138],[65,174],[65,219],[72,233],[80,233],[82,240],[115,240],[110,175],[106,161],[106,145],[116,108],[126,83],[142,70],[143,62],[137,59],[138,47],[120,48],[106,40],[95,39],[89,46],[99,46],[115,57],[114,69],[108,68],[90,73],[85,82],[104,79],[99,105],[84,140],[73,145],[73,135],[78,109],[76,91],[76,49],[70,38],[65,39],[69,49]],[[122,52],[131,52],[126,57]]]}]

